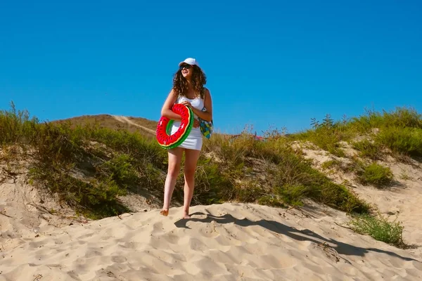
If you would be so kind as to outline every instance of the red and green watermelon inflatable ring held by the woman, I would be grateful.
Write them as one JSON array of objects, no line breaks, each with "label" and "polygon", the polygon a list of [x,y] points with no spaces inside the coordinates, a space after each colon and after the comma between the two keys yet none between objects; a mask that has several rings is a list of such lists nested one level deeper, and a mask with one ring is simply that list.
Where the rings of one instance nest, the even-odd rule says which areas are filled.
[{"label": "red and green watermelon inflatable ring held by the woman", "polygon": [[193,126],[193,111],[190,107],[177,103],[176,105],[173,105],[172,112],[181,116],[179,129],[171,135],[170,131],[174,120],[162,116],[160,120],[158,120],[157,131],[155,133],[158,143],[162,148],[166,149],[176,148],[181,145],[181,143],[186,140],[189,133],[191,133]]}]

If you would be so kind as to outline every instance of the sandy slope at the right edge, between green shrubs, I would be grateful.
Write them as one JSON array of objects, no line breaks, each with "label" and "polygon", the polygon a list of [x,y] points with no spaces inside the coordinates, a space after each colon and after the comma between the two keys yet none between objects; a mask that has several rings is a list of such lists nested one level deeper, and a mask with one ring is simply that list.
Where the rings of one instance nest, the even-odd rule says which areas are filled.
[{"label": "sandy slope at the right edge, between green shrubs", "polygon": [[[371,185],[357,183],[353,173],[343,171],[328,171],[321,168],[321,164],[329,160],[350,162],[350,159],[335,157],[319,148],[304,149],[305,157],[313,160],[316,169],[327,174],[336,183],[345,180],[351,183],[350,188],[366,202],[376,207],[383,216],[390,221],[397,219],[404,226],[404,242],[418,246],[410,251],[422,256],[422,164],[411,160],[410,163],[397,162],[392,157],[385,157],[385,161],[377,161],[378,164],[388,166],[394,175],[394,181],[388,188],[376,188]],[[346,151],[350,155],[357,155],[357,150],[349,147]]]}]

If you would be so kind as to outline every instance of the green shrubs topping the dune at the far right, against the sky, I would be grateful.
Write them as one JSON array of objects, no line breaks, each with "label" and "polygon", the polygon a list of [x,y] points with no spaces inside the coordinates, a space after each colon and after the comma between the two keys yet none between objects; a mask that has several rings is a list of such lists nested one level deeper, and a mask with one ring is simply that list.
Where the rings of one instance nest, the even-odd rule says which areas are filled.
[{"label": "green shrubs topping the dune at the far right, against the sky", "polygon": [[344,157],[338,145],[340,141],[349,141],[359,133],[373,133],[372,129],[378,129],[374,143],[354,143],[354,148],[361,151],[363,157],[377,159],[382,147],[410,156],[422,156],[422,115],[413,109],[398,107],[392,112],[367,110],[365,115],[343,122],[334,122],[327,115],[321,124],[315,119],[311,124],[313,129],[289,138],[310,141],[333,155]]}]

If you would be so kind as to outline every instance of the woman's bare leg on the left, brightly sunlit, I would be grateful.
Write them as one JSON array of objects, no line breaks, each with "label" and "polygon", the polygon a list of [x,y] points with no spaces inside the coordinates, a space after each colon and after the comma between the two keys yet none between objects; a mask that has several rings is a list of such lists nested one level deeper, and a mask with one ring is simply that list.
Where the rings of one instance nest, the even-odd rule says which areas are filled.
[{"label": "woman's bare leg on the left, brightly sunlit", "polygon": [[160,214],[167,216],[169,214],[170,202],[172,201],[172,195],[174,185],[176,185],[177,176],[180,171],[181,155],[183,155],[183,148],[173,148],[168,151],[169,155],[169,166],[167,171],[167,177],[165,178],[164,185],[164,204]]}]

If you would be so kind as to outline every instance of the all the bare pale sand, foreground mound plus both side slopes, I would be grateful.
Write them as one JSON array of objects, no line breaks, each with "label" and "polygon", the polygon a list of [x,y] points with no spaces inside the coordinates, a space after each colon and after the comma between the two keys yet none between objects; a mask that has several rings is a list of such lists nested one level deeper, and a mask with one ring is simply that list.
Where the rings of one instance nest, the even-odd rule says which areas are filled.
[{"label": "all the bare pale sand, foreground mound plus both side slopes", "polygon": [[[314,165],[332,158],[307,150]],[[257,204],[181,207],[87,221],[25,180],[0,172],[0,281],[47,280],[422,280],[421,165],[385,162],[387,190],[347,180],[385,216],[404,225],[398,249],[347,228],[345,213],[307,201],[280,209]],[[6,174],[5,174],[6,173]]]}]

